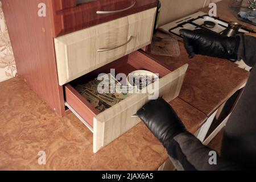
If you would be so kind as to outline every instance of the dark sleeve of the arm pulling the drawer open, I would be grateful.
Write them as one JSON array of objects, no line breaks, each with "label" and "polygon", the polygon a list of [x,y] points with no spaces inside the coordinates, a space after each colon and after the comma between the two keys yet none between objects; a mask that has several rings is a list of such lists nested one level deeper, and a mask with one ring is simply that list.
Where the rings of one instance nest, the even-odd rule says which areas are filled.
[{"label": "dark sleeve of the arm pulling the drawer open", "polygon": [[[185,171],[213,171],[240,170],[241,167],[230,163],[217,155],[216,151],[204,146],[194,135],[185,132],[177,135],[167,147],[170,159],[177,170]],[[212,161],[212,152],[216,154],[216,163]]]}]

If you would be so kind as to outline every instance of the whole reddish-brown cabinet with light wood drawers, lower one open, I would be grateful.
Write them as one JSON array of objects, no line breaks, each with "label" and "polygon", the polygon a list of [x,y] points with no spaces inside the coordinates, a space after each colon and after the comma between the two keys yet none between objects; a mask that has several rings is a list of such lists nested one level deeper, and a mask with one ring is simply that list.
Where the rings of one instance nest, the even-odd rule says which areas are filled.
[{"label": "whole reddish-brown cabinet with light wood drawers, lower one open", "polygon": [[[160,96],[171,101],[179,95],[187,65],[171,72],[137,51],[151,43],[155,0],[2,3],[19,77],[58,115],[67,114],[68,108],[73,111],[93,131],[94,152],[138,124],[131,116],[148,95],[132,94],[99,113],[75,90],[77,82],[90,81],[110,68],[126,75],[147,69],[162,77]],[[46,4],[46,17],[38,16],[39,3]]]}]

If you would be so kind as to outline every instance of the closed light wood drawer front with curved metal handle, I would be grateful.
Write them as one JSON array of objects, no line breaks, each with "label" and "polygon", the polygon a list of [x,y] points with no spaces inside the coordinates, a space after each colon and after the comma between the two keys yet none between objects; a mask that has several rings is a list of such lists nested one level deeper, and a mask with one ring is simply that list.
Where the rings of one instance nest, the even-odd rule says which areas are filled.
[{"label": "closed light wood drawer front with curved metal handle", "polygon": [[156,8],[55,38],[59,84],[151,43]]}]

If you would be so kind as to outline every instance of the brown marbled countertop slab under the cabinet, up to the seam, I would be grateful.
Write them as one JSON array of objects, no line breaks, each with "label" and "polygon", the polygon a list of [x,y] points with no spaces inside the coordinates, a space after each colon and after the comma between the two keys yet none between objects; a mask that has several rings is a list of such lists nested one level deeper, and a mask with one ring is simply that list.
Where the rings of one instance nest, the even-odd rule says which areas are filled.
[{"label": "brown marbled countertop slab under the cabinet, up to the seam", "polygon": [[[93,154],[93,135],[79,119],[57,117],[18,77],[0,83],[0,103],[0,170],[156,170],[168,159],[142,122]],[[179,98],[171,105],[192,133],[207,120]]]}]

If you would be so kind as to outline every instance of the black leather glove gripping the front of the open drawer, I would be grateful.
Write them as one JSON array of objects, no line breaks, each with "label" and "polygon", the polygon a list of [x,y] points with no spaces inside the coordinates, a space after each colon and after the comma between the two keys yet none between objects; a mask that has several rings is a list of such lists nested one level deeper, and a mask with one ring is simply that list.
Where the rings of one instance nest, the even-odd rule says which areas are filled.
[{"label": "black leather glove gripping the front of the open drawer", "polygon": [[187,131],[174,109],[163,98],[148,102],[138,110],[137,115],[166,148],[172,138]]}]

